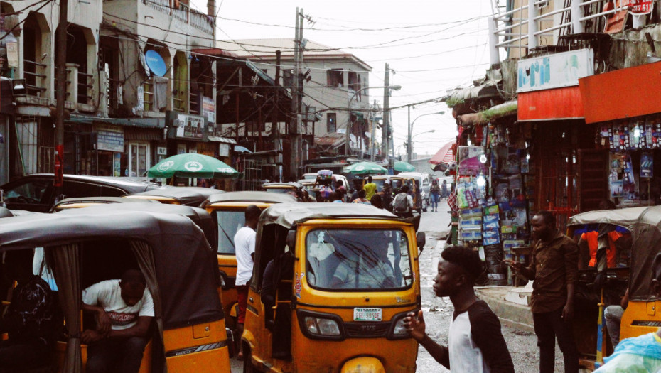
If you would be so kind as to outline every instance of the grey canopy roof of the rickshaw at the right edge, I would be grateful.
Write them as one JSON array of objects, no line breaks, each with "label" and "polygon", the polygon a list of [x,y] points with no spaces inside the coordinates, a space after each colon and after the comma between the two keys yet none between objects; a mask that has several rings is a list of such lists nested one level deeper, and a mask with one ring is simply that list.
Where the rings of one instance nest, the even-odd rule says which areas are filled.
[{"label": "grey canopy roof of the rickshaw at the right edge", "polygon": [[652,261],[661,252],[661,206],[584,212],[571,217],[567,225],[591,224],[617,225],[631,232],[629,298],[636,301],[654,299],[650,283]]}]

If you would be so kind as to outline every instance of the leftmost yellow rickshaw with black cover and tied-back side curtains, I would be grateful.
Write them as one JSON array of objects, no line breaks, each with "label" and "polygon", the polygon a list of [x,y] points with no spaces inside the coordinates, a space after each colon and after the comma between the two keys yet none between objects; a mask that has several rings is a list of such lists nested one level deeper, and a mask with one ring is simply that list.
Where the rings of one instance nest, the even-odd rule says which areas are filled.
[{"label": "leftmost yellow rickshaw with black cover and tied-back side curtains", "polygon": [[[43,372],[81,372],[87,345],[80,332],[95,321],[80,308],[82,290],[117,279],[126,269],[144,274],[155,317],[140,372],[230,372],[228,335],[222,311],[215,250],[200,227],[211,222],[203,210],[121,210],[117,204],[70,209],[58,214],[6,217],[0,222],[0,254],[30,250],[53,291],[64,325]],[[151,204],[141,204],[151,205]],[[195,210],[197,224],[181,215]],[[41,372],[41,371],[40,371]]]}]

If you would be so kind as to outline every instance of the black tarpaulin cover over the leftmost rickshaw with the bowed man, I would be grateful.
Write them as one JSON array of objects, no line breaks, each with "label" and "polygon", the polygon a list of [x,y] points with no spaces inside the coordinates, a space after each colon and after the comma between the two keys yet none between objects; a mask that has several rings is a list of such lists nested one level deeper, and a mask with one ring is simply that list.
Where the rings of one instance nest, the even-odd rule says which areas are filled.
[{"label": "black tarpaulin cover over the leftmost rickshaw with the bowed man", "polygon": [[98,239],[146,242],[154,253],[164,327],[221,320],[217,259],[200,227],[176,212],[121,210],[136,205],[166,207],[163,212],[171,207],[191,208],[131,203],[6,217],[0,220],[0,250],[49,249]]}]

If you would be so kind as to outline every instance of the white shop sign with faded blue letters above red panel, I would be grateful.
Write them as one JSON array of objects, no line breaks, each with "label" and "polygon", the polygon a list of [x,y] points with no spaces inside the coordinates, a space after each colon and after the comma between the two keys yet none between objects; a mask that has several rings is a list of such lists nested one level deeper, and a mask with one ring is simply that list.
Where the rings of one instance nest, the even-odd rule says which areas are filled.
[{"label": "white shop sign with faded blue letters above red panel", "polygon": [[591,49],[519,60],[517,92],[549,90],[579,85],[579,78],[594,74]]}]

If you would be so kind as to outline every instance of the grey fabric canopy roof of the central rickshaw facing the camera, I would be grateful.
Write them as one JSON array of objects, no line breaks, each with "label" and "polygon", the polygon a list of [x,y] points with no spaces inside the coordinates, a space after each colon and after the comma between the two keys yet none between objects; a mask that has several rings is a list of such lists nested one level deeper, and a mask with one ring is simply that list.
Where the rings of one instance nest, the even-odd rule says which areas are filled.
[{"label": "grey fabric canopy roof of the central rickshaw facing the camera", "polygon": [[362,203],[281,203],[262,212],[260,224],[277,224],[291,229],[312,219],[383,219],[401,220],[388,210]]}]

